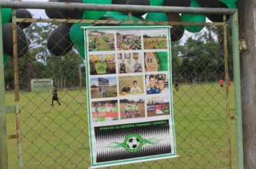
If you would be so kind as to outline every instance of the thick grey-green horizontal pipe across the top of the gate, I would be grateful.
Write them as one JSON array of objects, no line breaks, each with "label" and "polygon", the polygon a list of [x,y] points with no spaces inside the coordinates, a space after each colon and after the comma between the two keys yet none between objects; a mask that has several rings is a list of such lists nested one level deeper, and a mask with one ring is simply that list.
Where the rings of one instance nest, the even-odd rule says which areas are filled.
[{"label": "thick grey-green horizontal pipe across the top of the gate", "polygon": [[14,9],[60,9],[77,11],[121,11],[121,12],[160,12],[160,13],[191,13],[191,14],[234,14],[236,9],[195,8],[181,6],[142,6],[117,4],[80,4],[42,1],[0,1],[1,7]]}]

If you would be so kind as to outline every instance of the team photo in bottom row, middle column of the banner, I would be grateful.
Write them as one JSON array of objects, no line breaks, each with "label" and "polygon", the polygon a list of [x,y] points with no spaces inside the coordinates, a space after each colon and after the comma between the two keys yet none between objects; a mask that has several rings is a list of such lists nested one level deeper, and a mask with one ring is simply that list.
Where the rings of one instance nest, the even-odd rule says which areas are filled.
[{"label": "team photo in bottom row, middle column of the banner", "polygon": [[120,100],[121,119],[145,117],[145,100],[134,98]]}]

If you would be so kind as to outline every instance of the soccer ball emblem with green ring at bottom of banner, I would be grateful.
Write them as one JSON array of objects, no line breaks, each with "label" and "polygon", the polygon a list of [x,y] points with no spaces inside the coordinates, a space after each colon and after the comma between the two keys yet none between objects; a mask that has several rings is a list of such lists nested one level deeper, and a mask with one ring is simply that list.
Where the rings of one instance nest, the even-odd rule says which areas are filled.
[{"label": "soccer ball emblem with green ring at bottom of banner", "polygon": [[124,148],[129,152],[137,152],[142,148],[142,137],[137,134],[127,135],[124,140]]}]

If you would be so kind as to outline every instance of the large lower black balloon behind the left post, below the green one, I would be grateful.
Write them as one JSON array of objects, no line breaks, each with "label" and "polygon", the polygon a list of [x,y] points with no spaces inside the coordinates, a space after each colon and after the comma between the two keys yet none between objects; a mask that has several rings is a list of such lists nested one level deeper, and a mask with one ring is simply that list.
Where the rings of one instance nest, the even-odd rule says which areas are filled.
[{"label": "large lower black balloon behind the left post, below the green one", "polygon": [[[12,36],[12,23],[3,24],[3,45],[4,53],[9,56],[13,56],[13,36]],[[26,54],[29,48],[29,42],[23,29],[17,26],[17,46],[18,46],[18,57],[22,57]]]}]

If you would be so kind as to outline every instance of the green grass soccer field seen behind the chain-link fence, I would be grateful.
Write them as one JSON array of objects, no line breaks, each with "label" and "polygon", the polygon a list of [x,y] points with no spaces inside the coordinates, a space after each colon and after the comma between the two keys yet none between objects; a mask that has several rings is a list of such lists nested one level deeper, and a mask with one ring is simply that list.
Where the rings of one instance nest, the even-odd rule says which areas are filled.
[{"label": "green grass soccer field seen behind the chain-link fence", "polygon": [[[225,92],[219,84],[189,85],[174,92],[175,137],[179,158],[125,165],[122,168],[227,168]],[[50,92],[22,92],[22,159],[24,168],[88,168],[89,142],[86,91],[59,92],[61,104],[50,106]],[[234,87],[230,92],[234,114]],[[6,94],[6,105],[14,93]],[[8,135],[15,115],[7,115]],[[234,120],[231,122],[232,163],[235,165]],[[17,140],[9,140],[9,168],[17,168]],[[119,167],[114,167],[119,168]],[[235,168],[235,167],[234,167]]]}]

